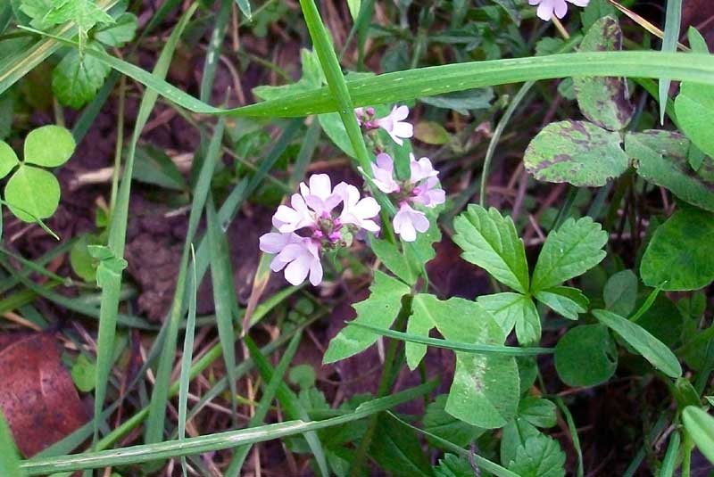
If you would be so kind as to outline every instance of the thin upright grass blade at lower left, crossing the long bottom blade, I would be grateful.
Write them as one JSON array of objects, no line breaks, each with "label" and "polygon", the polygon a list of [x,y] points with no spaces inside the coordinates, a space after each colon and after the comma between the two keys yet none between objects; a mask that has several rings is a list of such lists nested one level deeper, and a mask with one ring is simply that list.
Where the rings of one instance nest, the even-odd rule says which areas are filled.
[{"label": "thin upright grass blade at lower left, crossing the long bottom blade", "polygon": [[[184,335],[184,352],[181,355],[181,374],[179,377],[179,441],[186,440],[186,413],[188,408],[188,387],[191,384],[191,361],[194,356],[195,337],[195,301],[198,294],[195,273],[195,253],[191,248],[191,265],[188,276],[188,317]],[[181,457],[181,470],[187,477],[186,456]]]}]

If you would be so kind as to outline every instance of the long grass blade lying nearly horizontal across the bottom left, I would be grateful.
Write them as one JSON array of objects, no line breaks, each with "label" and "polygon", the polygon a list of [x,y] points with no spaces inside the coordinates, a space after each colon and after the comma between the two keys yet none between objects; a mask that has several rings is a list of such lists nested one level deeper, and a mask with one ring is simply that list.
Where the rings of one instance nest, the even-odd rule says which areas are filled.
[{"label": "long grass blade lying nearly horizontal across the bottom left", "polygon": [[[30,459],[21,462],[21,469],[28,473],[28,475],[44,475],[47,473],[71,472],[107,466],[140,464],[153,460],[187,456],[190,454],[211,452],[212,450],[234,448],[244,444],[255,444],[266,440],[281,439],[306,432],[317,432],[320,431],[320,429],[327,429],[335,425],[351,423],[417,399],[434,391],[436,384],[437,382],[428,382],[406,391],[397,392],[386,398],[373,399],[357,407],[352,413],[339,415],[322,421],[288,421],[251,429],[241,429],[240,431],[219,432],[208,436],[190,438],[182,442],[169,440],[157,444],[104,450],[76,456]],[[510,475],[508,477],[512,476]]]}]

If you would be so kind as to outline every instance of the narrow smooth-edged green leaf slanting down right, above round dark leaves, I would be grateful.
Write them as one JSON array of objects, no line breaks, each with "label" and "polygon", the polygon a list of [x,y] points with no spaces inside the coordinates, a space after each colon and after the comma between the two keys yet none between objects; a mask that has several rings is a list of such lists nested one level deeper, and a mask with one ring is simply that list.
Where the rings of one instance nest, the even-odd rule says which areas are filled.
[{"label": "narrow smooth-edged green leaf slanting down right, above round dark leaves", "polygon": [[652,366],[671,378],[678,378],[682,375],[682,366],[679,365],[677,356],[642,326],[604,309],[594,309],[593,315],[602,324],[618,333]]}]

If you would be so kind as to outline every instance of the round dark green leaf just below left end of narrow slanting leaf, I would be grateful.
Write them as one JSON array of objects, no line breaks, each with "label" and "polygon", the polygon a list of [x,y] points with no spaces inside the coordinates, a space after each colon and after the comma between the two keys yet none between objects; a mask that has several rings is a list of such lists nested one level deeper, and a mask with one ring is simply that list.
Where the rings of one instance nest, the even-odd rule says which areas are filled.
[{"label": "round dark green leaf just below left end of narrow slanting leaf", "polygon": [[618,367],[618,350],[604,325],[579,325],[569,329],[555,347],[555,369],[572,387],[606,382]]}]

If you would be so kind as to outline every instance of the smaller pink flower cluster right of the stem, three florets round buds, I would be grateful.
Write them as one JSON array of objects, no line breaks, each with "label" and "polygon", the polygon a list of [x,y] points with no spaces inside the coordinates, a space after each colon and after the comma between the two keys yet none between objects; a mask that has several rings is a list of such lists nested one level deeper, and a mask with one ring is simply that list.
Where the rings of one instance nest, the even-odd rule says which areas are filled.
[{"label": "smaller pink flower cluster right of the stem, three florets round buds", "polygon": [[415,241],[417,232],[423,233],[429,228],[426,214],[415,210],[411,204],[432,209],[446,201],[446,193],[438,186],[439,172],[434,169],[431,160],[426,157],[416,160],[410,154],[409,169],[409,179],[399,182],[394,178],[394,160],[389,154],[379,154],[372,164],[375,185],[382,192],[392,194],[399,204],[392,225],[394,232],[405,242]]}]

